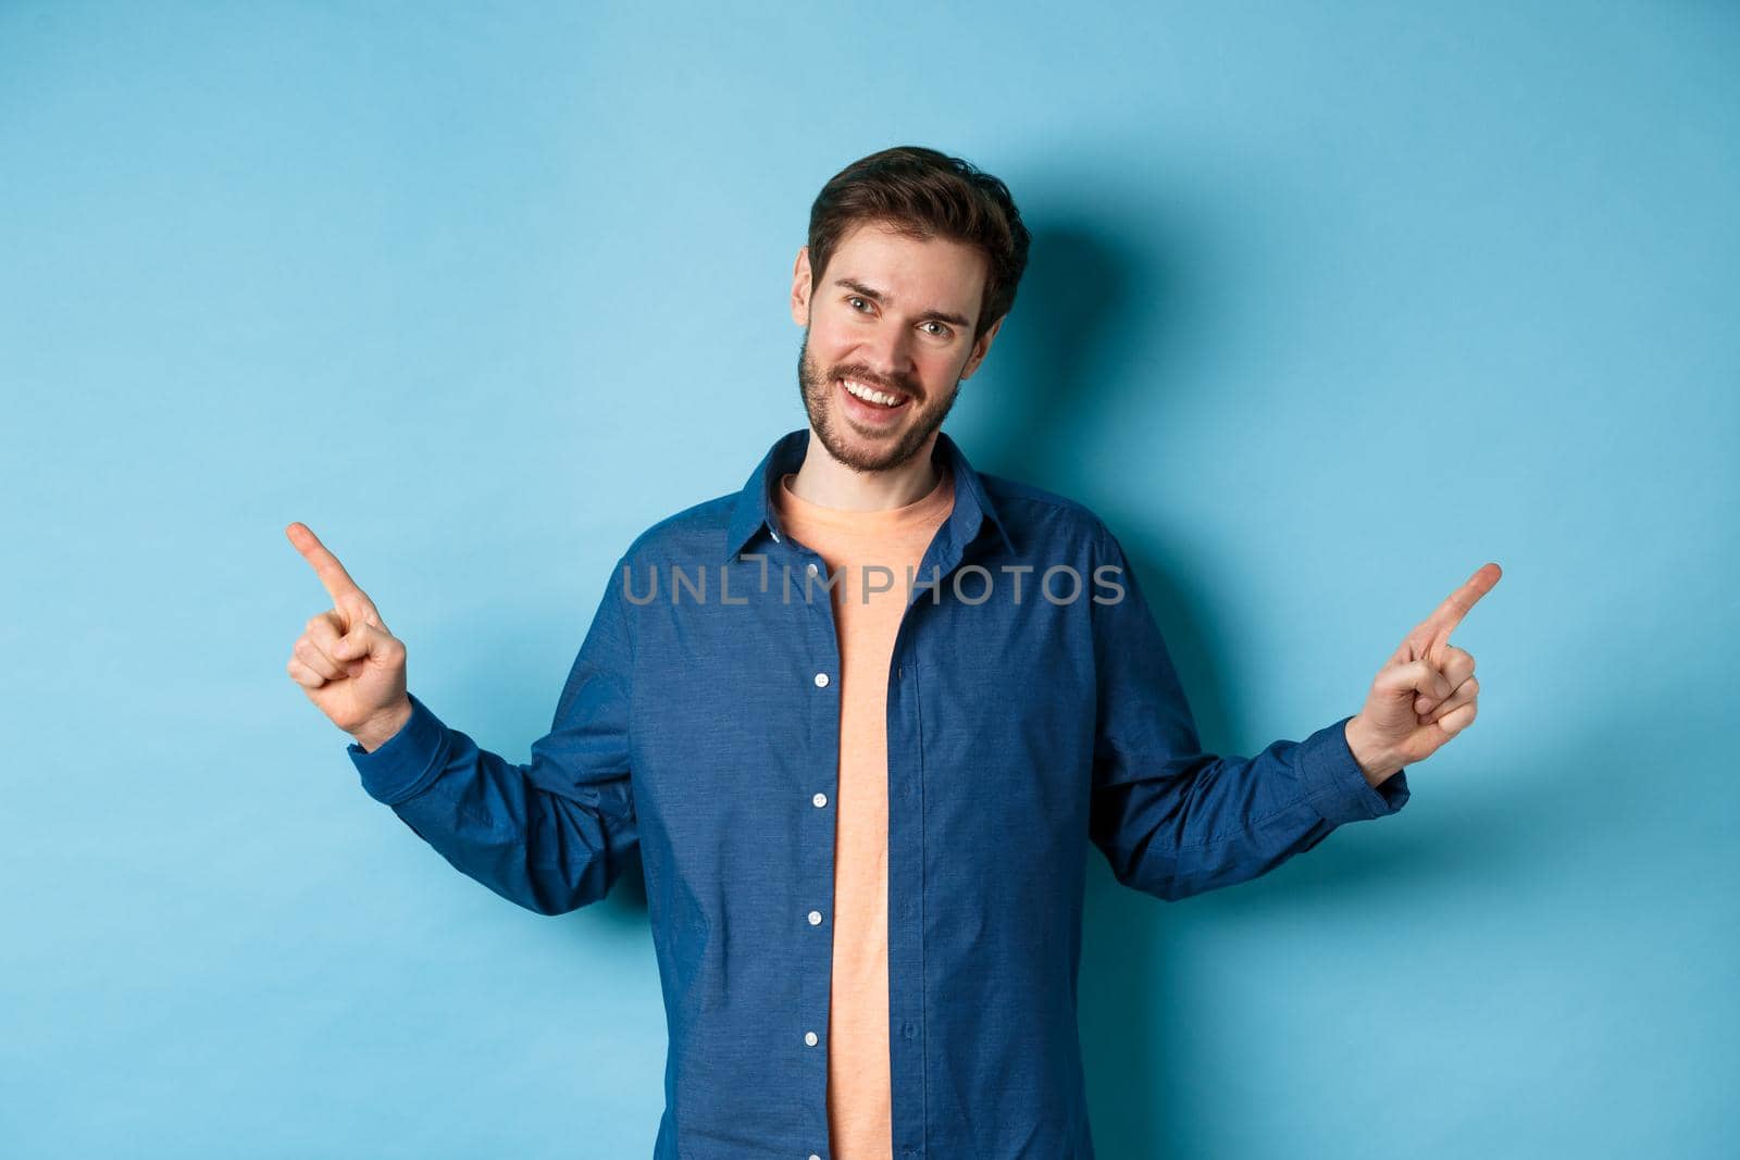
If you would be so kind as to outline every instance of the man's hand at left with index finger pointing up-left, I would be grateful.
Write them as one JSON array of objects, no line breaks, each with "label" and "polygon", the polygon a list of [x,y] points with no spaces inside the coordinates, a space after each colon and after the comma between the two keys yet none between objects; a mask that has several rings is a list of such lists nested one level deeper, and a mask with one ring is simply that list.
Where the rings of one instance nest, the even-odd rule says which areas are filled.
[{"label": "man's hand at left with index finger pointing up-left", "polygon": [[411,720],[405,645],[306,523],[291,523],[284,534],[332,597],[332,607],[296,638],[285,670],[334,725],[374,751]]}]

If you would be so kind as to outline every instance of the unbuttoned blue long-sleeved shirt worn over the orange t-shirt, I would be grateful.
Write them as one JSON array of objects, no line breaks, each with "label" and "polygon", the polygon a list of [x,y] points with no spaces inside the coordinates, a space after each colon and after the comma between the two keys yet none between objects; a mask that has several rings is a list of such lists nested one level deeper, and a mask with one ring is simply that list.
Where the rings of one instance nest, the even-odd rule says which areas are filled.
[{"label": "unbuttoned blue long-sleeved shirt worn over the orange t-shirt", "polygon": [[[531,763],[416,697],[386,744],[350,746],[374,798],[538,913],[604,897],[639,850],[670,1031],[656,1160],[828,1157],[840,657],[828,565],[769,496],[807,438],[630,544]],[[1202,753],[1117,537],[948,435],[933,454],[955,506],[887,673],[894,1158],[1088,1160],[1088,843],[1181,899],[1395,812],[1408,783],[1366,784],[1347,718]]]}]

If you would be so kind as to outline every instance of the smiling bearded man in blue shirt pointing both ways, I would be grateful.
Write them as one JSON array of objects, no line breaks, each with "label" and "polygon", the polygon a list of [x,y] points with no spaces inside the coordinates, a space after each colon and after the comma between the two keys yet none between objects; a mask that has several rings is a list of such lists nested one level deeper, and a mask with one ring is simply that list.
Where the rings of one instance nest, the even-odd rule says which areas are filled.
[{"label": "smiling bearded man in blue shirt pointing both ways", "polygon": [[1007,188],[898,148],[816,198],[792,277],[807,430],[618,560],[529,765],[405,689],[405,647],[301,523],[332,610],[289,673],[364,788],[539,913],[639,849],[670,1026],[656,1157],[1086,1158],[1086,847],[1164,899],[1392,814],[1476,715],[1415,628],[1364,708],[1255,758],[1201,751],[1117,537],[941,433],[1014,301]]}]

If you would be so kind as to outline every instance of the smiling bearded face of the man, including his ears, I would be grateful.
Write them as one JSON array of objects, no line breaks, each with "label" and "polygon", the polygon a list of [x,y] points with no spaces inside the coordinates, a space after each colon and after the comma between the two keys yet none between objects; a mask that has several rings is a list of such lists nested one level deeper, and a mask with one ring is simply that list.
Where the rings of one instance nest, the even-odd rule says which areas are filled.
[{"label": "smiling bearded face of the man, including his ears", "polygon": [[[814,289],[809,247],[799,250],[797,383],[828,454],[856,471],[887,471],[929,449],[960,381],[978,370],[1002,327],[999,318],[973,341],[985,275],[987,259],[971,245],[919,242],[879,223],[840,240]],[[882,398],[860,398],[858,388]]]}]

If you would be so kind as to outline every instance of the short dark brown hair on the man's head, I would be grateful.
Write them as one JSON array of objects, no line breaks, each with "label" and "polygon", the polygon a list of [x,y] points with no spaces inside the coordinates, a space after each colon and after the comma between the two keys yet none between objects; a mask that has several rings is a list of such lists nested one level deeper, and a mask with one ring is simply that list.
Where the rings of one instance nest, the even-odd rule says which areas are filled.
[{"label": "short dark brown hair on the man's head", "polygon": [[903,144],[860,158],[833,174],[809,207],[811,287],[821,282],[840,238],[882,221],[910,238],[976,245],[990,261],[973,330],[976,343],[1014,306],[1027,270],[1027,226],[1009,186],[959,157]]}]

